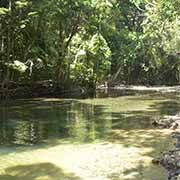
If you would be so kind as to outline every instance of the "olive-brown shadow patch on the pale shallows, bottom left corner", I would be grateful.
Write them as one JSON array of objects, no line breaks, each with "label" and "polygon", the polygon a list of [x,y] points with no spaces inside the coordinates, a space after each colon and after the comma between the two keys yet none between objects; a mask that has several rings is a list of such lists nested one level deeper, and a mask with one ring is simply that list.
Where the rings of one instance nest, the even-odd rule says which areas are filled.
[{"label": "olive-brown shadow patch on the pale shallows, bottom left corner", "polygon": [[80,180],[51,163],[20,165],[5,169],[0,180]]}]

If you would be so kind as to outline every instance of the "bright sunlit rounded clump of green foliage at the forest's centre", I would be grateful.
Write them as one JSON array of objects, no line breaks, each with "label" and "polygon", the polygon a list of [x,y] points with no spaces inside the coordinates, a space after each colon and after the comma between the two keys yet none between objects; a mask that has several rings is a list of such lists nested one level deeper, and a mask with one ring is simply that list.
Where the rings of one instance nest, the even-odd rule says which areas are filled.
[{"label": "bright sunlit rounded clump of green foliage at the forest's centre", "polygon": [[[78,46],[78,38],[74,46]],[[79,42],[82,42],[79,39]],[[71,78],[80,85],[101,82],[110,72],[111,51],[106,40],[100,34],[84,41],[79,49],[74,48],[74,61],[70,66]]]}]

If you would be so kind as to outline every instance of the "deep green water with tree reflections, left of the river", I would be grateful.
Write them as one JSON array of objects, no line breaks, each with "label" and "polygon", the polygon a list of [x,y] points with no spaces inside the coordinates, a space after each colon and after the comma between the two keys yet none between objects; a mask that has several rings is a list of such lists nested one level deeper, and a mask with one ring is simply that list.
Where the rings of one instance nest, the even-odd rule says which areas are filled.
[{"label": "deep green water with tree reflections, left of the river", "polygon": [[90,142],[105,137],[111,128],[104,107],[78,102],[52,104],[26,102],[0,109],[0,143],[31,145],[50,138]]}]

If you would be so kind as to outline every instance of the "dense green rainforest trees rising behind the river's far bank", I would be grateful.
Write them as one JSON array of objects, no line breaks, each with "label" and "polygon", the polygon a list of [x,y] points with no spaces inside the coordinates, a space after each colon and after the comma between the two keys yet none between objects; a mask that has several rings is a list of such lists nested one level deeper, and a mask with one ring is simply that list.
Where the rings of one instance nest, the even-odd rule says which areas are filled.
[{"label": "dense green rainforest trees rising behind the river's far bank", "polygon": [[1,0],[0,94],[179,84],[179,8],[179,0]]}]

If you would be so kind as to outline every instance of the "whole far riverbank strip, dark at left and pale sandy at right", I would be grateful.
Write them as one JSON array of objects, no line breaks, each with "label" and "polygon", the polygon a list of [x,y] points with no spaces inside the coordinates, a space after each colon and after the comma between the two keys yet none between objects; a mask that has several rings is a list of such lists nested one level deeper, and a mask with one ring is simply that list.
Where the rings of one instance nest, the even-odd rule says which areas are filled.
[{"label": "whole far riverbank strip, dark at left and pale sandy at right", "polygon": [[[97,92],[97,93],[95,93]],[[134,85],[116,85],[107,87],[99,85],[95,90],[87,89],[79,86],[72,86],[69,89],[56,88],[51,81],[39,81],[32,85],[12,85],[6,89],[0,88],[0,99],[21,99],[21,98],[85,98],[85,97],[102,97],[122,96],[133,94],[149,94],[149,93],[179,93],[180,86],[134,86]],[[101,97],[101,95],[100,95]]]}]

